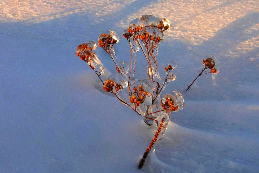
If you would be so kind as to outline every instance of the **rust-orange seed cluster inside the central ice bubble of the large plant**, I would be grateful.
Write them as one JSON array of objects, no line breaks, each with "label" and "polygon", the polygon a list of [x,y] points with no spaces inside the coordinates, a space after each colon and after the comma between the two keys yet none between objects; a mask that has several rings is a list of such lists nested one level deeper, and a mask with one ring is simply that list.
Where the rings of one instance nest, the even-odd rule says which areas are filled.
[{"label": "rust-orange seed cluster inside the central ice bubble of the large plant", "polygon": [[139,87],[133,87],[134,92],[130,95],[130,102],[135,104],[135,107],[138,107],[139,104],[144,103],[148,92],[143,90],[143,85],[139,85]]}]

